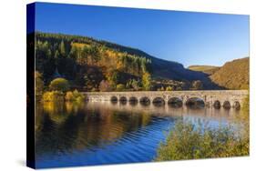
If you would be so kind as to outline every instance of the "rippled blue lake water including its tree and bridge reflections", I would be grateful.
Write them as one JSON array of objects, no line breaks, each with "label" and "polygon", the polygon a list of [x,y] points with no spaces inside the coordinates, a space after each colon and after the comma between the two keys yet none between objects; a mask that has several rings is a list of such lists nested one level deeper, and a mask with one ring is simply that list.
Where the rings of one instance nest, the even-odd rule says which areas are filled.
[{"label": "rippled blue lake water including its tree and bridge reflections", "polygon": [[227,126],[234,109],[110,102],[36,105],[36,167],[149,162],[179,119]]}]

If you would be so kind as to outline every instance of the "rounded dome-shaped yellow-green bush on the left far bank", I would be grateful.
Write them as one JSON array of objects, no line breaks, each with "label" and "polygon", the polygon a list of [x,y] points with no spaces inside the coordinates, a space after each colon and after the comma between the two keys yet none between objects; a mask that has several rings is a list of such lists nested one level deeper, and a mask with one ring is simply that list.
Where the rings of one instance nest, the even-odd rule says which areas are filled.
[{"label": "rounded dome-shaped yellow-green bush on the left far bank", "polygon": [[65,78],[56,78],[51,81],[50,90],[66,92],[69,89],[69,84]]}]

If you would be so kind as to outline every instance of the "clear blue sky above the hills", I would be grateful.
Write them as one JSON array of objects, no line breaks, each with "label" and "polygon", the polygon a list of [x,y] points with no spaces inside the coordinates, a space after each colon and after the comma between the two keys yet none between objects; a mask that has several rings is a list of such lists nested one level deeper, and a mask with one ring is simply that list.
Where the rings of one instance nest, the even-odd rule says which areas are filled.
[{"label": "clear blue sky above the hills", "polygon": [[184,66],[249,56],[249,15],[38,3],[36,31],[92,36]]}]

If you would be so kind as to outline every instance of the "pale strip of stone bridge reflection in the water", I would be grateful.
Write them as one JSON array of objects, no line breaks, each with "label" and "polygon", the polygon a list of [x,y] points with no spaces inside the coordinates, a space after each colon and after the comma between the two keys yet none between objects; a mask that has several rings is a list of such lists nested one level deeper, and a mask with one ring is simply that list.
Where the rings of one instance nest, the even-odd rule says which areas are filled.
[{"label": "pale strip of stone bridge reflection in the water", "polygon": [[104,111],[115,110],[118,112],[135,112],[143,113],[153,116],[191,116],[191,117],[205,117],[205,118],[225,118],[232,119],[233,116],[239,115],[240,110],[236,108],[216,108],[216,107],[205,107],[205,106],[171,106],[171,105],[154,105],[154,104],[133,104],[133,103],[121,103],[111,101],[101,102],[89,102],[87,108],[90,109],[101,109]]}]

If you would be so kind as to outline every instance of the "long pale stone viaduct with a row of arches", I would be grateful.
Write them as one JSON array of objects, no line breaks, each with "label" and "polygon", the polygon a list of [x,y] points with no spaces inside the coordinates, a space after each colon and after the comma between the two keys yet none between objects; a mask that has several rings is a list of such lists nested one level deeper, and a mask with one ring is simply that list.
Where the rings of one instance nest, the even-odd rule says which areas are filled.
[{"label": "long pale stone viaduct with a row of arches", "polygon": [[204,106],[240,108],[248,90],[83,92],[89,101],[180,104],[201,102]]}]

